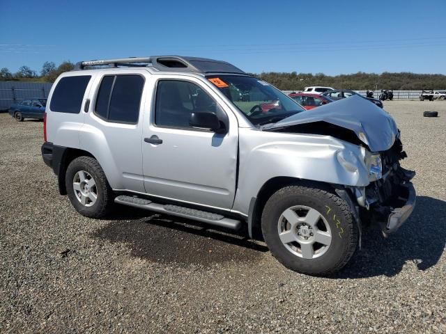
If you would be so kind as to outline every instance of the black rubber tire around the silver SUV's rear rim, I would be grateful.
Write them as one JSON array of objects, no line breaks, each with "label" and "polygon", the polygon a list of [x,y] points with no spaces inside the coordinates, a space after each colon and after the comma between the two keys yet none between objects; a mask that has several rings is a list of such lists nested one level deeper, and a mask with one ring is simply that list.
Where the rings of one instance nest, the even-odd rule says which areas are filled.
[{"label": "black rubber tire around the silver SUV's rear rim", "polygon": [[[89,173],[95,181],[97,199],[91,207],[82,205],[73,189],[73,180],[76,173],[80,170]],[[75,207],[79,214],[89,218],[104,218],[112,211],[114,207],[114,193],[107,181],[107,177],[105,177],[104,170],[102,170],[96,159],[92,157],[78,157],[71,161],[66,171],[65,183],[68,198],[70,198],[72,206]]]}]

